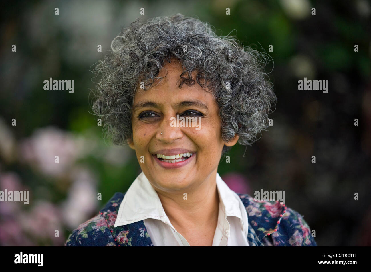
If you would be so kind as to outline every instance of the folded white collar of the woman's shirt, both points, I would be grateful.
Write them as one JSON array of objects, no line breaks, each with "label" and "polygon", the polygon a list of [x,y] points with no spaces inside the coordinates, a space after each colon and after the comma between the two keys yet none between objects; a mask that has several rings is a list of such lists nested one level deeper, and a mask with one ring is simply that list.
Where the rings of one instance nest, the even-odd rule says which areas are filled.
[{"label": "folded white collar of the woman's shirt, both points", "polygon": [[[216,184],[220,204],[225,216],[237,216],[240,218],[241,225],[243,226],[243,216],[239,199],[234,195],[236,193],[221,179],[219,173],[216,174]],[[131,224],[148,218],[159,219],[167,224],[171,224],[165,214],[164,208],[162,208],[157,192],[144,173],[141,172],[129,187],[124,199],[122,199],[114,226],[116,228],[117,226]]]}]

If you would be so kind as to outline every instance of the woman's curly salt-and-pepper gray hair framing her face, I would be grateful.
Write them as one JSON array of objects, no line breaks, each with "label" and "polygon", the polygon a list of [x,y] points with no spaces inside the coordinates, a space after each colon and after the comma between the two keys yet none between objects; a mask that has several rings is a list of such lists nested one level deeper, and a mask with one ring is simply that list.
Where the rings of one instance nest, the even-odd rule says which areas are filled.
[{"label": "woman's curly salt-and-pepper gray hair framing her face", "polygon": [[[102,75],[96,85],[92,110],[102,119],[103,131],[117,145],[132,138],[132,106],[140,81],[145,89],[157,79],[164,61],[179,59],[185,68],[179,87],[197,83],[212,90],[219,104],[221,134],[229,142],[251,145],[268,127],[273,84],[263,68],[265,53],[242,47],[230,36],[217,36],[209,23],[182,14],[139,19],[124,28],[111,43],[110,54],[98,61],[93,73]],[[184,45],[187,50],[183,50]],[[202,83],[201,83],[202,81]],[[222,156],[231,147],[224,145]]]}]

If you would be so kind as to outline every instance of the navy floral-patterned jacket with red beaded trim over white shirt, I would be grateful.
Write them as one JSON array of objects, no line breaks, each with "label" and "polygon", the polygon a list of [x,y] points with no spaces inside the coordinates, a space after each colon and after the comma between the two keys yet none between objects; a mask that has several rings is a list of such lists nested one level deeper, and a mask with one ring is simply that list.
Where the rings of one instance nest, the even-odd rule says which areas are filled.
[{"label": "navy floral-patterned jacket with red beaded trim over white shirt", "polygon": [[[114,227],[125,194],[116,192],[98,215],[78,226],[65,246],[153,246],[143,221]],[[250,246],[317,246],[303,216],[284,204],[238,194],[247,211]]]}]

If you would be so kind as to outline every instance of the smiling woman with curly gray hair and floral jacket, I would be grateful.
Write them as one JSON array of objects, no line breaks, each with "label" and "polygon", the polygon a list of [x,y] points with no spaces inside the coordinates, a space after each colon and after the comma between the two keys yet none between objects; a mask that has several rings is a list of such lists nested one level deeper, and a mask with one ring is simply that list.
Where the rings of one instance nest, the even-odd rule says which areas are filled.
[{"label": "smiling woman with curly gray hair and floral jacket", "polygon": [[217,173],[267,127],[276,97],[263,54],[181,14],[135,21],[111,50],[93,111],[142,172],[66,246],[316,245],[298,212],[236,194]]}]

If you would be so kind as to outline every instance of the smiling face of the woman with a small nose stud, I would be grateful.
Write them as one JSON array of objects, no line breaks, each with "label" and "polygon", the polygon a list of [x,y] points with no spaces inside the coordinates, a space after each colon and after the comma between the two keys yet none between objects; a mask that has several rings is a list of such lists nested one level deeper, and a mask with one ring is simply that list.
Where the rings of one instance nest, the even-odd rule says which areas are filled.
[{"label": "smiling face of the woman with a small nose stud", "polygon": [[[194,189],[203,182],[211,182],[223,145],[236,144],[238,135],[232,141],[224,142],[219,106],[213,95],[197,82],[194,86],[183,84],[178,88],[182,73],[178,61],[166,63],[164,68],[167,75],[166,70],[160,71],[159,76],[166,75],[160,84],[152,85],[147,91],[138,88],[135,94],[133,138],[128,143],[135,150],[139,165],[152,186],[167,192]],[[188,127],[182,127],[181,117],[194,117],[198,124],[188,122]],[[190,157],[188,152],[192,154]],[[157,154],[161,154],[161,158]],[[178,157],[182,154],[183,157]],[[175,157],[162,159],[162,155]]]}]

